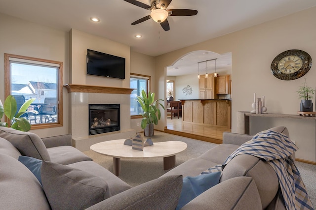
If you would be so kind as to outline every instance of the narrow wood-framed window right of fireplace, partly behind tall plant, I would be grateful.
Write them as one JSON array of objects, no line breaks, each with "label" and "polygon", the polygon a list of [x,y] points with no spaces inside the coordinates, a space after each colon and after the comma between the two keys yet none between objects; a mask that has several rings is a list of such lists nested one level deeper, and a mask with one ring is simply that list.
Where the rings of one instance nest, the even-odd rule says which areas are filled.
[{"label": "narrow wood-framed window right of fireplace, partly behind tall plant", "polygon": [[137,116],[143,113],[141,106],[136,101],[136,95],[141,95],[142,90],[147,93],[150,87],[150,76],[141,74],[130,74],[130,88],[135,89],[130,94],[130,115]]}]

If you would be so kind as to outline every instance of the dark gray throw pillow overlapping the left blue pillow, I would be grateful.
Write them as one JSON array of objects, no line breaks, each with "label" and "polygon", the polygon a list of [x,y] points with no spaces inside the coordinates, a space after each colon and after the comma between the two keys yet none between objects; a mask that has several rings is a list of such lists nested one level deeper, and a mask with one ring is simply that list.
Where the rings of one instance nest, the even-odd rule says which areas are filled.
[{"label": "dark gray throw pillow overlapping the left blue pillow", "polygon": [[104,180],[79,169],[43,161],[40,174],[53,210],[86,209],[111,197]]}]

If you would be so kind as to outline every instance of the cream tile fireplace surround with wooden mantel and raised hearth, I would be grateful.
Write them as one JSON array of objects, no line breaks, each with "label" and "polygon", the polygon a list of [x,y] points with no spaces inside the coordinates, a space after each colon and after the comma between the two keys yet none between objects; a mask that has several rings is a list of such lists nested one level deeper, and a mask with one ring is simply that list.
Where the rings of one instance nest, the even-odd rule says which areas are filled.
[{"label": "cream tile fireplace surround with wooden mantel and raised hearth", "polygon": [[[113,139],[126,139],[136,131],[130,128],[130,93],[132,89],[85,85],[64,85],[70,97],[70,127],[73,145],[81,151],[90,150],[90,146]],[[89,104],[120,104],[120,131],[89,136],[87,122]],[[124,120],[125,119],[125,120]]]}]

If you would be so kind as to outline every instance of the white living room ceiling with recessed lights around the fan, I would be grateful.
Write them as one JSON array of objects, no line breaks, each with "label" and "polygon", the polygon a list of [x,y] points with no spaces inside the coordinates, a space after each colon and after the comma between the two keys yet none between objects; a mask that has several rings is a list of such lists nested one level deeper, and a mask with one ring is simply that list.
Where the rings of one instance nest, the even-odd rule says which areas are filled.
[{"label": "white living room ceiling with recessed lights around the fan", "polygon": [[[150,0],[139,1],[150,5]],[[81,30],[129,45],[132,51],[158,56],[313,6],[316,0],[172,0],[167,9],[198,13],[169,16],[169,31],[152,19],[132,26],[150,11],[124,0],[0,0],[0,13],[58,30]],[[101,21],[92,23],[92,16]],[[143,37],[137,39],[135,34]]]}]

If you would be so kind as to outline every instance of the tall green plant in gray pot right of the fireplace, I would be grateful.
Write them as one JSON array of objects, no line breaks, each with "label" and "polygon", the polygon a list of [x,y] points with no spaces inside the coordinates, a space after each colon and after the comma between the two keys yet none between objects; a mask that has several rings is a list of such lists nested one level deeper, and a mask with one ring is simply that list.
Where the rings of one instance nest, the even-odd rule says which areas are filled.
[{"label": "tall green plant in gray pot right of the fireplace", "polygon": [[[155,93],[151,93],[150,91],[146,94],[145,90],[142,90],[141,96],[136,96],[136,101],[142,107],[144,113],[141,114],[143,117],[141,127],[144,129],[145,136],[153,136],[154,135],[154,124],[158,124],[158,120],[160,120],[160,110],[158,106],[161,106],[164,110],[164,106],[159,103],[159,101],[163,101],[162,99],[155,100]],[[157,116],[158,114],[158,116]]]}]

